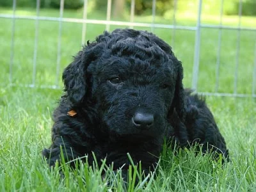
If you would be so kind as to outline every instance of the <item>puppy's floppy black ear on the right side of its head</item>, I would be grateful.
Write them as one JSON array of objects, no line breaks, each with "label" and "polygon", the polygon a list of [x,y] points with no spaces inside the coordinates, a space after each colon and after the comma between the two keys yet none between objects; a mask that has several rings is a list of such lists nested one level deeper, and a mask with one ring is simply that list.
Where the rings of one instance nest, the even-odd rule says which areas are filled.
[{"label": "puppy's floppy black ear on the right side of its head", "polygon": [[176,78],[176,83],[175,83],[175,91],[174,91],[174,97],[172,100],[172,106],[170,110],[175,108],[177,111],[177,114],[179,115],[180,120],[184,122],[185,120],[185,91],[183,88],[182,84],[182,79],[183,79],[183,67],[182,63],[175,59],[175,67],[176,67],[176,72],[177,72],[177,78]]}]

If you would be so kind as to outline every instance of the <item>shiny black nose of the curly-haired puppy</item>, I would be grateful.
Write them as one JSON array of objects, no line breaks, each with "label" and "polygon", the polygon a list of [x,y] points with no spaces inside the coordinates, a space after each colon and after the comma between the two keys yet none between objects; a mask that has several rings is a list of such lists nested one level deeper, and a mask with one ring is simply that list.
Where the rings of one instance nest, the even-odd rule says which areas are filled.
[{"label": "shiny black nose of the curly-haired puppy", "polygon": [[132,117],[132,123],[140,129],[148,129],[154,124],[154,115],[151,113],[136,112]]}]

